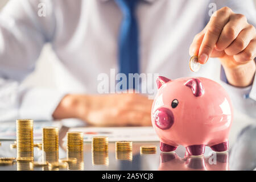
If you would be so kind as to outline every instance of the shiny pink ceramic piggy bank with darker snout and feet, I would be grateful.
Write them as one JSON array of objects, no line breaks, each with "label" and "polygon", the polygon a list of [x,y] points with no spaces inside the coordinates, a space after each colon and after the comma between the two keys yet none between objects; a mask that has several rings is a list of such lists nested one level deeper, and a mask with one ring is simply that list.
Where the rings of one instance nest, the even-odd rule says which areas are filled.
[{"label": "shiny pink ceramic piggy bank with darker snout and feet", "polygon": [[189,155],[228,150],[233,107],[228,93],[208,78],[158,77],[158,93],[151,109],[151,121],[160,138],[160,150],[186,147]]}]

